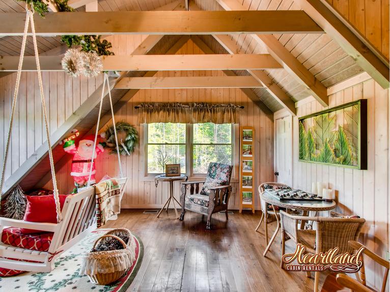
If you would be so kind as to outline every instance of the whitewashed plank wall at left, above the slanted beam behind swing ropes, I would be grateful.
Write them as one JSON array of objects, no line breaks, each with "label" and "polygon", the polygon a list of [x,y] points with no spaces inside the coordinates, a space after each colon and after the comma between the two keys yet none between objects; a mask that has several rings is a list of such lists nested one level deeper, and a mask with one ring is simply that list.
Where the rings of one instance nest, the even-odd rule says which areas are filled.
[{"label": "whitewashed plank wall at left, above the slanted beam behind swing ropes", "polygon": [[[123,35],[108,37],[116,55],[131,54],[147,35]],[[103,81],[96,78],[72,78],[65,72],[42,72],[42,82],[47,108],[50,133],[57,130],[80,104]],[[8,134],[12,98],[15,91],[16,73],[0,78],[0,162],[3,164],[4,148]],[[15,172],[46,141],[41,96],[36,72],[22,72],[17,100],[12,140],[5,179]]]}]

